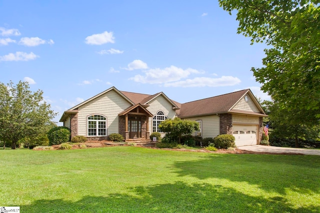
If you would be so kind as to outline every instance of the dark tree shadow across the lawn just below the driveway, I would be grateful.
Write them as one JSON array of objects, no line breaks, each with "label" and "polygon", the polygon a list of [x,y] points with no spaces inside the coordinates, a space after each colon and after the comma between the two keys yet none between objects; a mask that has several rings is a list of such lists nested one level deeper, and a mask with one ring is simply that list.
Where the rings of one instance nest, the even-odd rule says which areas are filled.
[{"label": "dark tree shadow across the lawn just below the driveway", "polygon": [[320,192],[320,158],[287,155],[212,155],[201,160],[175,162],[179,176],[226,179],[257,185],[267,192]]}]

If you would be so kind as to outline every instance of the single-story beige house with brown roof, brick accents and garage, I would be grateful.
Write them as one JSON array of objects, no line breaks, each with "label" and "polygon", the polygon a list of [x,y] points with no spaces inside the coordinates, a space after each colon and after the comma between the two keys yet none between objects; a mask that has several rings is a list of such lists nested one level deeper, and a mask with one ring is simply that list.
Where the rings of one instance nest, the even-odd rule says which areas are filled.
[{"label": "single-story beige house with brown roof, brick accents and garage", "polygon": [[197,121],[196,136],[231,134],[237,146],[259,144],[262,137],[261,106],[249,89],[180,104],[163,92],[154,95],[119,91],[111,87],[66,110],[60,118],[71,137],[107,140],[119,133],[126,141],[149,139],[160,132],[159,124],[168,118]]}]

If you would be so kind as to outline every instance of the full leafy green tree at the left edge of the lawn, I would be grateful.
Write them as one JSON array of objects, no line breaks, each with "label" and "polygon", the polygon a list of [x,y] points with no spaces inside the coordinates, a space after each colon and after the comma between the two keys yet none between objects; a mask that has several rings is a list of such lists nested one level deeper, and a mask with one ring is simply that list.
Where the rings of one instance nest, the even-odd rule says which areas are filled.
[{"label": "full leafy green tree at the left edge of the lawn", "polygon": [[11,142],[43,133],[56,115],[42,97],[43,92],[29,90],[27,82],[0,83],[0,139]]}]

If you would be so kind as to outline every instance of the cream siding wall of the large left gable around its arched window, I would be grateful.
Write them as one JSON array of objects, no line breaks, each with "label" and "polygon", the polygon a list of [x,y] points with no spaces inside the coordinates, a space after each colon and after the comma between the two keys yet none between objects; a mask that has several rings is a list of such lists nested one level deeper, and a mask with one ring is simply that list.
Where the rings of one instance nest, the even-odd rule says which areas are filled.
[{"label": "cream siding wall of the large left gable around its arched window", "polygon": [[87,116],[106,117],[107,135],[118,133],[118,113],[131,106],[113,90],[93,99],[78,109],[78,135],[87,136]]}]

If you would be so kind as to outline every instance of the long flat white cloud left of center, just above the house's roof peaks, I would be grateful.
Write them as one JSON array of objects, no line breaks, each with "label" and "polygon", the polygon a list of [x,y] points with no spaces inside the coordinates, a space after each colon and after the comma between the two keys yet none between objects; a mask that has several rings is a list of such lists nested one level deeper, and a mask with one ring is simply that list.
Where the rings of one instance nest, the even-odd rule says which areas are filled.
[{"label": "long flat white cloud left of center, just above the house's roof peaks", "polygon": [[166,67],[164,69],[155,68],[144,71],[144,75],[135,75],[130,80],[140,83],[161,84],[172,81],[178,81],[181,78],[186,78],[191,73],[200,73],[198,70],[187,68],[182,69],[176,66]]}]

